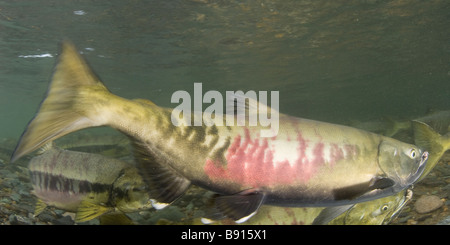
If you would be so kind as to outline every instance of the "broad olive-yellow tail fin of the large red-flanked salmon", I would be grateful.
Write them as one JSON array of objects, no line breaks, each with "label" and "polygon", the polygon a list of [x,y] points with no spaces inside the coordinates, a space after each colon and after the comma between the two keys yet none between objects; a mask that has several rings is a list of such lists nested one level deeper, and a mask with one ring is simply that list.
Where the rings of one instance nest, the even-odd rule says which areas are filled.
[{"label": "broad olive-yellow tail fin of the large red-flanked salmon", "polygon": [[87,127],[100,126],[88,118],[81,101],[88,89],[108,91],[68,41],[61,45],[49,89],[38,113],[29,122],[11,156],[11,162],[49,141]]}]

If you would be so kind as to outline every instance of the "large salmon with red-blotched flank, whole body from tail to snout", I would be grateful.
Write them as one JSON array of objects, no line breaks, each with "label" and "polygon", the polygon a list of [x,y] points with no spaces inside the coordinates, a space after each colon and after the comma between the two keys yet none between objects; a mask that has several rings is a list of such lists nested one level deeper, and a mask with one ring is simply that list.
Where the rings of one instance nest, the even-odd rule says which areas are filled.
[{"label": "large salmon with red-blotched flank, whole body from tail to snout", "polygon": [[192,183],[222,194],[216,206],[241,220],[263,203],[339,206],[395,194],[417,180],[428,156],[388,137],[284,114],[278,134],[261,137],[261,125],[216,126],[227,125],[219,117],[202,126],[185,126],[195,115],[176,118],[175,126],[173,110],[110,93],[65,42],[47,97],[12,161],[70,132],[107,125],[132,140],[155,207]]}]

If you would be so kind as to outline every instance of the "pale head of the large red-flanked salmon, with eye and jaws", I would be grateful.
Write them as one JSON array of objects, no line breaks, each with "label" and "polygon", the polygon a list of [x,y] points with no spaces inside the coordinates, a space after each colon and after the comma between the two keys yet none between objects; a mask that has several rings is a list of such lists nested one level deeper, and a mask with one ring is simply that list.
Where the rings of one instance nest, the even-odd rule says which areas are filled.
[{"label": "pale head of the large red-flanked salmon, with eye and jaws", "polygon": [[400,189],[413,184],[422,174],[428,152],[413,146],[383,140],[378,147],[378,165]]}]

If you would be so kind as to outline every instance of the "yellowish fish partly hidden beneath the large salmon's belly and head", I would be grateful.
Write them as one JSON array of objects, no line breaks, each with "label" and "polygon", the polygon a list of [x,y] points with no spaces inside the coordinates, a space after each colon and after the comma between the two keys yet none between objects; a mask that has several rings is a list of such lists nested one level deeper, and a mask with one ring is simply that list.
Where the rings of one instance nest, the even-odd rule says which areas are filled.
[{"label": "yellowish fish partly hidden beneath the large salmon's belly and head", "polygon": [[[399,193],[338,207],[277,207],[262,206],[258,213],[245,222],[245,225],[387,225],[412,198],[412,190],[406,189]],[[199,225],[203,220],[195,218],[181,222],[161,220],[159,223],[178,225]],[[211,225],[232,225],[233,220],[214,220]]]}]

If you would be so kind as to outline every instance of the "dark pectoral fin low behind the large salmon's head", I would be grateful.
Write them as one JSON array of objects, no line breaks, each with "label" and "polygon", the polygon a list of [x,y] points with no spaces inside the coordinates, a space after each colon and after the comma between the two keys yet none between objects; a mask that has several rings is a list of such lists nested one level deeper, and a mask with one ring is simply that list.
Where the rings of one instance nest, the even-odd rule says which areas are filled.
[{"label": "dark pectoral fin low behind the large salmon's head", "polygon": [[373,178],[372,180],[351,186],[336,188],[333,190],[335,200],[353,200],[376,189],[386,189],[395,182],[389,178]]}]

